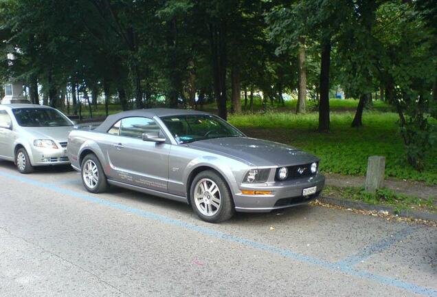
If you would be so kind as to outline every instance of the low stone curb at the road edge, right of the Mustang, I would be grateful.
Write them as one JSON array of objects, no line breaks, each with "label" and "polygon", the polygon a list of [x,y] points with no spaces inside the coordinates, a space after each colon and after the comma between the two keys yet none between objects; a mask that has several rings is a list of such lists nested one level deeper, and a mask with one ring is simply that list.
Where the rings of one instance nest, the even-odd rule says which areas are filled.
[{"label": "low stone curb at the road edge, right of the Mustang", "polygon": [[399,212],[395,212],[396,208],[392,206],[379,206],[368,204],[362,201],[352,201],[341,198],[332,198],[332,197],[323,197],[320,196],[317,199],[324,203],[333,204],[337,206],[343,206],[345,208],[355,208],[357,210],[374,210],[374,211],[386,211],[390,214],[398,215],[399,217],[409,217],[413,219],[423,219],[426,221],[437,221],[437,214],[432,212],[420,212],[417,210],[400,210]]}]

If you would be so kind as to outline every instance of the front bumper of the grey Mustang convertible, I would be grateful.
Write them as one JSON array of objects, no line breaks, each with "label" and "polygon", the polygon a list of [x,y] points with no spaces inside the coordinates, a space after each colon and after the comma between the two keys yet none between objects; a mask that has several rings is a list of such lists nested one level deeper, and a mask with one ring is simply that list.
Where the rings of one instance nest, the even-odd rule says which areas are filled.
[{"label": "front bumper of the grey Mustang convertible", "polygon": [[[315,199],[324,188],[324,184],[325,177],[321,174],[256,186],[241,184],[238,192],[234,195],[235,209],[238,212],[269,212],[275,209],[298,206]],[[315,194],[302,196],[304,188],[313,186],[317,186]],[[271,191],[271,195],[244,195],[241,190]]]}]

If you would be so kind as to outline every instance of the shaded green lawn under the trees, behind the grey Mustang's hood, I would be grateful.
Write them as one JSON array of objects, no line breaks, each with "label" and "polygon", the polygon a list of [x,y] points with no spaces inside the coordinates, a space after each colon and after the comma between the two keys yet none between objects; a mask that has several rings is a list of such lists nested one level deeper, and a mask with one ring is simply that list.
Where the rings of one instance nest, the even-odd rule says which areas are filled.
[{"label": "shaded green lawn under the trees, behind the grey Mustang's hood", "polygon": [[437,184],[437,149],[429,152],[427,168],[418,172],[405,161],[396,113],[365,112],[363,127],[351,128],[354,113],[331,113],[331,132],[317,132],[317,113],[231,115],[229,122],[249,136],[283,142],[320,157],[325,173],[365,175],[371,155],[385,156],[385,175]]}]

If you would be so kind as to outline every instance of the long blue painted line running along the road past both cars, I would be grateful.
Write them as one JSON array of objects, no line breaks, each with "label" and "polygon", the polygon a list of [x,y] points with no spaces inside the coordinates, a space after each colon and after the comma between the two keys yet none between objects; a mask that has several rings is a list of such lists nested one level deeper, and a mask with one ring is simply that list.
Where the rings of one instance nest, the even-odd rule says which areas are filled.
[{"label": "long blue painted line running along the road past both cars", "polygon": [[[52,190],[52,191],[58,192],[60,194],[70,195],[72,197],[76,197],[76,198],[83,199],[86,201],[91,201],[93,203],[98,203],[100,205],[109,206],[111,208],[115,208],[118,210],[123,210],[125,212],[131,212],[133,214],[137,214],[139,217],[144,217],[146,219],[153,219],[155,221],[159,221],[161,223],[166,223],[168,225],[175,225],[175,226],[178,226],[181,228],[186,228],[188,230],[196,231],[196,232],[199,232],[201,234],[208,235],[208,236],[213,236],[213,237],[216,237],[218,239],[225,240],[225,241],[229,241],[229,242],[233,242],[233,243],[240,243],[242,245],[246,245],[247,247],[254,248],[256,250],[262,250],[265,252],[269,252],[271,254],[278,254],[280,256],[284,256],[284,257],[289,258],[289,259],[295,259],[297,261],[301,261],[304,263],[310,263],[313,265],[324,267],[328,270],[333,270],[335,272],[342,272],[344,274],[348,274],[349,276],[356,276],[356,277],[363,278],[363,279],[366,279],[369,281],[375,281],[375,282],[381,283],[383,285],[390,285],[390,286],[397,287],[400,289],[405,289],[405,290],[412,292],[414,294],[421,294],[424,296],[437,297],[437,290],[436,289],[422,287],[419,285],[415,285],[413,283],[407,283],[407,282],[398,280],[396,278],[390,278],[387,276],[380,276],[378,274],[372,274],[370,272],[357,270],[354,267],[352,267],[348,261],[346,261],[344,263],[333,263],[330,261],[317,259],[315,257],[306,256],[304,254],[292,252],[289,250],[284,250],[282,248],[277,248],[273,245],[266,245],[264,243],[260,243],[257,241],[251,241],[249,239],[244,239],[242,237],[234,236],[232,234],[227,234],[224,232],[212,230],[210,228],[204,228],[204,227],[200,227],[198,225],[192,225],[190,223],[185,223],[183,221],[171,219],[170,217],[166,217],[166,216],[161,215],[161,214],[155,214],[154,212],[147,212],[145,210],[140,210],[138,208],[131,208],[131,207],[125,206],[121,203],[115,203],[115,202],[107,201],[104,199],[92,197],[92,196],[87,195],[87,194],[82,194],[81,192],[75,192],[73,190],[67,190],[65,188],[60,188],[60,187],[55,186],[55,185],[45,184],[41,181],[36,181],[34,179],[29,179],[27,177],[21,177],[19,175],[12,175],[9,173],[2,173],[2,172],[0,172],[0,176],[8,177],[8,178],[14,179],[16,181],[21,181],[21,182],[26,183],[26,184],[31,184],[32,186],[46,188],[47,190]],[[385,246],[388,247],[387,244],[385,244]],[[381,246],[384,246],[384,244],[382,244]],[[364,254],[366,254],[366,252],[361,253],[360,254],[361,257]],[[359,258],[359,256],[357,256],[357,258]],[[341,262],[343,262],[343,261],[341,261]],[[350,261],[350,263],[354,263],[354,261]]]}]

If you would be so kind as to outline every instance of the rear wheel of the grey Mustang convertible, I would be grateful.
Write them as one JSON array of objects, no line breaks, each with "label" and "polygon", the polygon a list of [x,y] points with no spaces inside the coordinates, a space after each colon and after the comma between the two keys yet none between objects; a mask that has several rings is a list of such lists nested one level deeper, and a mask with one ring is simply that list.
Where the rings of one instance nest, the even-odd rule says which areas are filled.
[{"label": "rear wheel of the grey Mustang convertible", "polygon": [[108,181],[104,175],[102,164],[96,155],[86,155],[80,166],[82,184],[88,192],[101,193],[108,189]]}]

